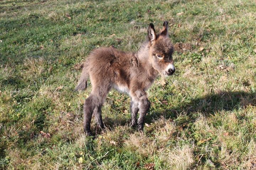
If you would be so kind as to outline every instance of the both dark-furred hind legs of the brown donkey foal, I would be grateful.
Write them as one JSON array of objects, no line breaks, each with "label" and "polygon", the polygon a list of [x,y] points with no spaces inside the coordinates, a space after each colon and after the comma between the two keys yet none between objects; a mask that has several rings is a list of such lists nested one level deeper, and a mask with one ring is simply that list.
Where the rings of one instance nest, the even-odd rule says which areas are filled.
[{"label": "both dark-furred hind legs of the brown donkey foal", "polygon": [[101,106],[107,96],[108,90],[104,91],[103,89],[92,90],[90,96],[85,100],[84,103],[84,131],[85,134],[91,136],[91,118],[94,113],[95,119],[97,121],[98,126],[103,128],[103,121],[101,117]]}]

